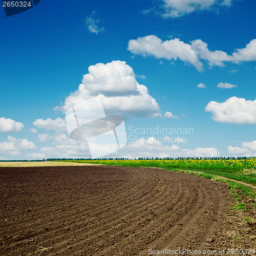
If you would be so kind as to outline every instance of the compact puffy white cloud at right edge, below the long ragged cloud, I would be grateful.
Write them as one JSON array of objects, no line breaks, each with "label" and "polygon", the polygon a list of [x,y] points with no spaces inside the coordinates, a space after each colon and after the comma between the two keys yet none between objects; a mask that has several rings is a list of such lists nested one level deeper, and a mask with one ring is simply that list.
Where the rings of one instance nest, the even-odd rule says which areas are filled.
[{"label": "compact puffy white cloud at right edge, below the long ragged cloud", "polygon": [[256,99],[231,97],[222,103],[210,101],[205,111],[211,112],[217,122],[256,124]]}]

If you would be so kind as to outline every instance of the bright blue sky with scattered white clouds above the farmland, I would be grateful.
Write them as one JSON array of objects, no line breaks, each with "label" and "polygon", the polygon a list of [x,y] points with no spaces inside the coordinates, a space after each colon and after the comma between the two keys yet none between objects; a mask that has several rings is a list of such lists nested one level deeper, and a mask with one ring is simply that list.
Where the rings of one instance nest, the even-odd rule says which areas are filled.
[{"label": "bright blue sky with scattered white clouds above the farmland", "polygon": [[106,157],[256,155],[254,0],[0,9],[0,160],[91,157],[65,113],[95,96],[126,127],[127,144]]}]

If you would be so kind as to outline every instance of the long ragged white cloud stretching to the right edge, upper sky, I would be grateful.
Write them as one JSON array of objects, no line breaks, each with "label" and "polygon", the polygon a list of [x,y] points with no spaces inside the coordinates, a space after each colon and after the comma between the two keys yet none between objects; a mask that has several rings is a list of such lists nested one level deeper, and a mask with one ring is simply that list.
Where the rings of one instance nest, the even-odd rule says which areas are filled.
[{"label": "long ragged white cloud stretching to the right edge, upper sky", "polygon": [[156,35],[147,35],[132,39],[128,43],[128,50],[133,54],[142,56],[150,55],[156,58],[174,59],[179,58],[195,66],[198,71],[203,70],[205,60],[210,67],[225,66],[224,61],[239,63],[241,61],[256,60],[256,39],[253,39],[243,49],[237,49],[232,55],[215,50],[210,51],[206,42],[201,39],[187,44],[179,38],[162,41]]}]

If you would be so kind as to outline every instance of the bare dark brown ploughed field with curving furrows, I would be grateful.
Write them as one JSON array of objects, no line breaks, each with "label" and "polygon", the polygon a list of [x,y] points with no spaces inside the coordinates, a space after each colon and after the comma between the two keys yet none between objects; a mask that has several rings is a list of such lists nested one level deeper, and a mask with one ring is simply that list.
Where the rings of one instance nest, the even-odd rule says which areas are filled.
[{"label": "bare dark brown ploughed field with curving furrows", "polygon": [[0,255],[255,248],[231,203],[226,185],[162,169],[1,167]]}]

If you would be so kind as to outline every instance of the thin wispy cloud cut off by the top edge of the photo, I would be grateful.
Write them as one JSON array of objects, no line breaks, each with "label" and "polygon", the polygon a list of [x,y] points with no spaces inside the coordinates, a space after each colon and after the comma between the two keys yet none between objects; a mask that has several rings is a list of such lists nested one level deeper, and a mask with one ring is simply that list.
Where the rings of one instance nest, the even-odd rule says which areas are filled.
[{"label": "thin wispy cloud cut off by the top edge of the photo", "polygon": [[230,6],[232,0],[162,0],[162,16],[180,17],[197,10],[207,10],[212,6]]}]

